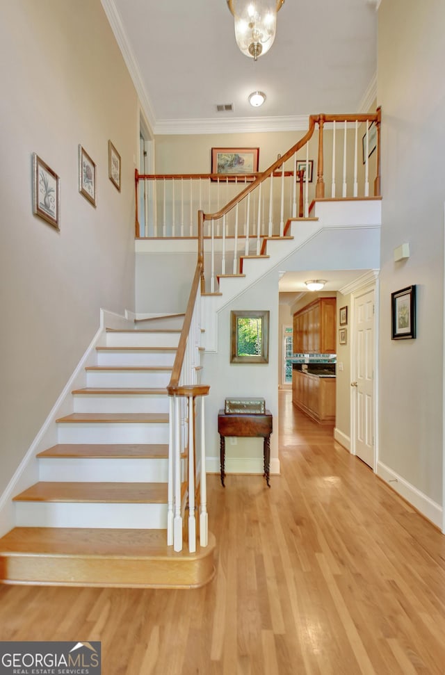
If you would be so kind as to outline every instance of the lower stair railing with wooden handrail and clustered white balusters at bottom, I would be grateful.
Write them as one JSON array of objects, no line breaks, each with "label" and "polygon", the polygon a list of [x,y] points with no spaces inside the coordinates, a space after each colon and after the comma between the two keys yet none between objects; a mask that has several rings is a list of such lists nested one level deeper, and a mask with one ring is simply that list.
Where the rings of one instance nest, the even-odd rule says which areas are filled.
[{"label": "lower stair railing with wooden handrail and clustered white balusters at bottom", "polygon": [[[198,241],[202,241],[201,227],[198,228]],[[188,550],[191,553],[195,553],[197,545],[197,508],[200,510],[200,546],[207,546],[209,537],[204,396],[207,396],[210,387],[198,383],[202,270],[202,257],[198,254],[184,324],[167,387],[170,396],[167,541],[175,551],[181,551],[184,530],[187,529]],[[182,462],[184,456],[187,460],[185,471]],[[186,506],[188,521],[184,523],[183,513]]]}]

